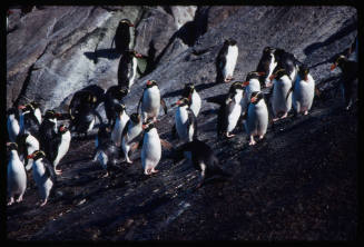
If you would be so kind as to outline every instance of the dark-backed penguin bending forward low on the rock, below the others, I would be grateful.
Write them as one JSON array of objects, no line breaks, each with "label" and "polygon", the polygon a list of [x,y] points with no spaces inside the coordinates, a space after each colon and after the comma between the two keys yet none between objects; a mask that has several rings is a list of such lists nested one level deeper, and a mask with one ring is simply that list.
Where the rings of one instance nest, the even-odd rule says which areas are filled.
[{"label": "dark-backed penguin bending forward low on the rock, below the others", "polygon": [[183,159],[184,152],[190,152],[191,165],[200,171],[199,182],[196,188],[201,187],[206,179],[215,175],[230,177],[232,175],[220,168],[219,160],[213,149],[205,142],[195,138],[175,149],[174,162]]}]

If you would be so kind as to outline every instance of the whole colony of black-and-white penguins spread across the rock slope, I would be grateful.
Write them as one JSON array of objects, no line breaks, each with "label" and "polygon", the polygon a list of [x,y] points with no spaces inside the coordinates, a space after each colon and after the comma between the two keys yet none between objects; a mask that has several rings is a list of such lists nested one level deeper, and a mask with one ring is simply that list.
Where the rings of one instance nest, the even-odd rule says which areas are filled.
[{"label": "whole colony of black-and-white penguins spread across the rock slope", "polygon": [[[145,175],[158,172],[156,167],[161,159],[163,148],[173,149],[174,161],[184,157],[200,171],[197,188],[206,178],[230,175],[222,168],[213,149],[198,139],[197,117],[201,108],[201,98],[194,83],[186,83],[177,106],[173,137],[181,145],[177,148],[161,139],[157,124],[160,107],[167,113],[167,106],[160,96],[156,80],[147,80],[137,112],[127,115],[124,97],[130,92],[136,79],[137,59],[142,55],[130,50],[130,31],[134,24],[122,19],[117,28],[112,43],[121,55],[118,68],[118,85],[105,90],[98,86],[89,86],[73,95],[67,113],[47,110],[41,116],[40,105],[32,101],[7,111],[8,140],[8,195],[9,202],[22,201],[27,188],[27,171],[32,169],[33,180],[38,187],[40,206],[48,201],[52,188],[57,185],[57,176],[70,142],[71,131],[79,137],[87,136],[94,128],[96,118],[99,129],[96,137],[94,161],[98,161],[110,175],[110,166],[118,159],[132,164],[130,154],[141,149],[141,166]],[[130,30],[131,29],[131,30]],[[354,81],[357,77],[357,61],[348,57],[355,50],[354,41],[348,52],[340,55],[331,67],[342,70],[341,88],[345,109],[354,102]],[[111,47],[112,47],[111,43]],[[357,49],[357,48],[356,48]],[[216,82],[228,83],[234,80],[234,70],[238,57],[236,40],[227,39],[216,58]],[[269,88],[269,92],[262,91]],[[293,108],[296,115],[307,115],[315,96],[315,80],[307,66],[299,62],[294,55],[279,48],[266,47],[256,71],[247,73],[245,80],[234,81],[226,95],[207,98],[207,102],[219,105],[217,112],[217,137],[233,138],[236,126],[242,125],[249,138],[249,146],[256,145],[255,138],[263,139],[268,127],[268,107],[272,107],[272,122],[286,118]],[[102,122],[96,108],[104,102],[107,124]],[[139,112],[140,108],[140,112]],[[57,119],[69,119],[69,126],[60,125]],[[17,199],[14,199],[14,197]]]}]

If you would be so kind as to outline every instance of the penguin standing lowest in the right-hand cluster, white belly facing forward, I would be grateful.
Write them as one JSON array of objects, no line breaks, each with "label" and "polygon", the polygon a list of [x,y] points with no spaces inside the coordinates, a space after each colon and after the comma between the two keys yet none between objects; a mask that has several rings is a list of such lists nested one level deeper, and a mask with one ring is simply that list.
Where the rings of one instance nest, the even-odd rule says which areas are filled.
[{"label": "penguin standing lowest in the right-hand cluster, white belly facing forward", "polygon": [[246,119],[244,121],[245,130],[250,138],[249,145],[255,145],[254,137],[264,138],[268,127],[268,108],[264,101],[262,91],[254,91],[250,95]]}]

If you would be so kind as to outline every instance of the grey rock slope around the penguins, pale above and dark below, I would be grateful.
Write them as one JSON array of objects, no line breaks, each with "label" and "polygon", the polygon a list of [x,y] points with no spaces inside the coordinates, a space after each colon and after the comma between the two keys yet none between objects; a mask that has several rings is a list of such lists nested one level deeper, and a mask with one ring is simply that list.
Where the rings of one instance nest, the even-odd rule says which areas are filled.
[{"label": "grey rock slope around the penguins, pale above and dark below", "polygon": [[[245,131],[216,139],[217,108],[203,100],[199,138],[233,177],[194,190],[198,174],[163,151],[160,172],[146,177],[139,152],[119,162],[109,179],[91,162],[94,138],[72,139],[60,164],[57,191],[46,208],[31,175],[24,200],[7,211],[10,239],[354,239],[357,237],[357,115],[342,110],[331,90],[340,70],[332,58],[354,41],[351,7],[41,7],[20,17],[13,9],[7,34],[7,108],[36,100],[45,112],[66,111],[89,85],[117,85],[120,56],[111,41],[120,19],[135,23],[131,47],[147,56],[126,97],[136,110],[145,82],[155,79],[167,106],[194,82],[203,99],[225,93],[215,85],[215,58],[227,38],[237,40],[234,77],[255,70],[266,46],[283,48],[311,68],[322,96],[312,113],[268,128],[249,147]],[[335,95],[336,93],[336,95]],[[99,107],[102,111],[102,106]],[[170,139],[175,108],[157,129]],[[31,227],[30,227],[31,226]]]}]

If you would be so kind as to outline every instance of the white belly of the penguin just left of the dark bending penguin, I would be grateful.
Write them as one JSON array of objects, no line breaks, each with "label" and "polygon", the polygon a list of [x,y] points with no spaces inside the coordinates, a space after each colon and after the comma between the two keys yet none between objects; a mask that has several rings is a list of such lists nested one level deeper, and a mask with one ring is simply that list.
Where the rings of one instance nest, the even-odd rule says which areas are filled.
[{"label": "white belly of the penguin just left of the dark bending penguin", "polygon": [[147,166],[156,166],[161,157],[161,146],[156,128],[145,134],[141,149],[141,162],[144,169]]}]

